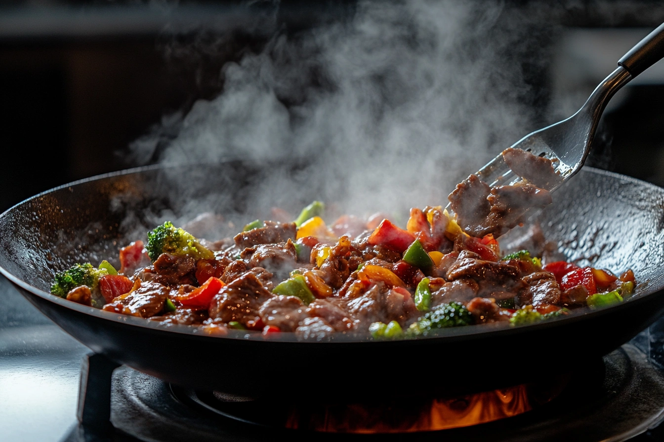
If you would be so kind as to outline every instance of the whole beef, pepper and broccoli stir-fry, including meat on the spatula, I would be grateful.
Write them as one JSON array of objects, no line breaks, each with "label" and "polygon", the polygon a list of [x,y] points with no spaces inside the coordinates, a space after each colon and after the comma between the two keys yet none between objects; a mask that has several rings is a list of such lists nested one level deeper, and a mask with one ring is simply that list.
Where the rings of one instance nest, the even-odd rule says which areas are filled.
[{"label": "whole beef, pepper and broccoli stir-fry, including meat on the spatula", "polygon": [[[550,160],[503,152],[523,178],[491,188],[463,180],[442,207],[410,209],[406,228],[390,219],[343,215],[331,225],[314,201],[294,221],[256,220],[232,239],[209,242],[166,222],[120,250],[120,270],[75,264],[56,274],[52,294],[164,325],[269,336],[294,332],[398,339],[438,329],[523,325],[623,302],[620,277],[572,262],[542,262],[541,250],[503,255],[495,237],[523,223],[523,210],[551,202]],[[535,171],[535,172],[533,172]]]}]

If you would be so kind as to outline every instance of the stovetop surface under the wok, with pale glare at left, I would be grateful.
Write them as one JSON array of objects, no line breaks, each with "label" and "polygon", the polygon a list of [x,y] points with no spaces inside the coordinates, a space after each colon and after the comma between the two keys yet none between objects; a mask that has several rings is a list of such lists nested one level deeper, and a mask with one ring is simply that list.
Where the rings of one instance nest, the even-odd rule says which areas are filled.
[{"label": "stovetop surface under the wok, with pale glare at left", "polygon": [[232,400],[214,399],[212,392],[171,386],[127,367],[115,370],[112,378],[111,420],[116,428],[80,425],[76,414],[82,361],[96,359],[88,359],[89,349],[52,325],[4,278],[0,300],[2,440],[253,441],[283,435],[291,440],[315,436],[384,441],[440,439],[442,433],[446,440],[464,441],[664,440],[664,425],[659,425],[664,417],[664,319],[598,361],[606,372],[603,382],[591,385],[598,373],[594,368],[588,368],[584,382],[582,368],[576,386],[531,412],[436,432],[340,435],[284,429],[266,421],[270,410],[283,408],[280,403],[238,407]]}]

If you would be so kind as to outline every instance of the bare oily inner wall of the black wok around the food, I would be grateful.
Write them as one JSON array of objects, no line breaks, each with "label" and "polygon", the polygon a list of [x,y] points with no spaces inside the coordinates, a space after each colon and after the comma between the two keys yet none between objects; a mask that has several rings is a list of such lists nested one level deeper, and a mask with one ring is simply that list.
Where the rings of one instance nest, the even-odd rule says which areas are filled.
[{"label": "bare oily inner wall of the black wok around the food", "polygon": [[[232,235],[256,217],[267,219],[268,202],[294,209],[320,199],[321,189],[313,186],[293,186],[271,195],[270,201],[257,197],[273,180],[296,172],[279,164],[226,162],[195,172],[177,166],[129,170],[64,186],[0,216],[0,266],[48,292],[54,272],[74,262],[97,264],[109,257],[118,264],[120,247],[145,240],[145,233],[165,219],[183,223],[196,213],[213,211],[224,215],[224,223],[209,235]],[[190,176],[187,186],[176,184],[183,174]],[[546,239],[557,243],[567,260],[614,272],[633,269],[635,296],[661,290],[664,190],[586,168],[553,196],[539,222]]]}]

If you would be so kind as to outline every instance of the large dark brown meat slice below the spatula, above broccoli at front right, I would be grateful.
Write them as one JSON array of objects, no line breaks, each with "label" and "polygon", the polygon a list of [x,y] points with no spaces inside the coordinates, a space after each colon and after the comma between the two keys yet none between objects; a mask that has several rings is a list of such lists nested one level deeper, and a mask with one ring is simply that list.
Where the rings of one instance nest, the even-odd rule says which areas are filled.
[{"label": "large dark brown meat slice below the spatula, above broccoli at front right", "polygon": [[519,269],[503,262],[479,259],[479,255],[469,250],[461,250],[459,258],[450,266],[447,280],[475,280],[479,286],[477,296],[498,300],[511,298],[523,288]]}]

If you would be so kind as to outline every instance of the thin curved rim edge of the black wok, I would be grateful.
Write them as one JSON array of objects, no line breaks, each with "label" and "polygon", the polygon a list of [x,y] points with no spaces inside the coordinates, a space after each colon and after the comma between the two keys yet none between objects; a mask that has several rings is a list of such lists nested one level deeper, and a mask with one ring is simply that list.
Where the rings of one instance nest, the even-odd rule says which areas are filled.
[{"label": "thin curved rim edge of the black wok", "polygon": [[[228,160],[222,160],[216,164],[226,164],[228,162],[231,162],[232,159]],[[42,197],[44,195],[48,195],[49,193],[56,192],[58,190],[63,190],[66,188],[70,188],[72,186],[77,186],[80,184],[85,184],[88,182],[94,182],[94,181],[100,181],[104,180],[106,178],[114,178],[118,176],[128,176],[131,174],[139,174],[141,172],[147,172],[147,171],[152,171],[152,170],[164,170],[167,168],[177,168],[180,167],[181,164],[174,164],[174,163],[168,163],[168,164],[152,164],[149,166],[139,166],[136,168],[129,168],[129,169],[123,169],[123,170],[118,170],[116,172],[109,172],[106,174],[100,174],[96,176],[91,176],[89,178],[83,178],[82,180],[76,180],[74,182],[70,182],[67,184],[62,184],[61,186],[57,186],[55,188],[46,190],[41,193],[37,193],[37,195],[33,195],[27,199],[24,199],[23,201],[9,207],[9,209],[5,210],[3,213],[0,214],[0,219],[7,216],[8,213],[11,211],[14,211],[21,205],[28,203],[29,201],[33,201],[34,199],[38,199],[39,197]],[[210,166],[210,164],[207,164],[207,166]],[[643,180],[638,180],[637,178],[633,178],[631,176],[626,176],[622,174],[617,174],[616,172],[610,172],[607,170],[601,170],[598,168],[592,168],[589,166],[586,166],[582,169],[582,172],[588,172],[591,174],[598,174],[598,175],[603,175],[603,176],[609,176],[614,179],[618,180],[623,180],[627,182],[631,182],[632,184],[638,184],[639,186],[643,186],[644,188],[651,188],[655,192],[664,192],[664,189],[656,186],[655,184],[651,184],[649,182],[645,182]],[[106,320],[106,321],[112,321],[114,323],[124,323],[126,325],[131,325],[131,326],[137,326],[137,327],[143,327],[146,329],[151,329],[153,331],[157,332],[171,332],[171,333],[179,333],[183,335],[190,335],[190,336],[196,336],[200,337],[201,339],[234,339],[234,340],[242,340],[242,341],[270,341],[270,342],[283,342],[283,343],[295,343],[295,344],[358,344],[358,343],[367,343],[367,342],[373,342],[374,345],[380,345],[381,343],[397,343],[397,342],[403,342],[403,343],[409,343],[409,342],[414,342],[414,341],[430,341],[430,340],[441,340],[444,339],[446,341],[457,341],[457,340],[464,340],[464,339],[469,339],[469,337],[472,337],[472,339],[481,339],[483,335],[486,333],[491,333],[492,335],[511,335],[514,333],[521,333],[522,331],[525,330],[525,328],[528,328],[529,330],[541,330],[541,329],[546,329],[550,327],[560,327],[564,326],[565,324],[571,324],[574,322],[578,321],[584,321],[586,319],[590,320],[590,318],[595,318],[595,317],[601,317],[602,315],[606,314],[612,314],[614,313],[617,309],[620,309],[622,306],[626,304],[640,304],[641,302],[645,302],[646,298],[650,296],[657,296],[659,293],[664,292],[663,290],[657,290],[654,292],[647,292],[647,285],[649,281],[644,281],[641,282],[640,284],[643,284],[646,287],[646,292],[639,294],[637,297],[631,297],[624,302],[617,304],[617,305],[612,305],[610,307],[604,307],[602,309],[590,309],[589,307],[582,307],[584,310],[583,311],[573,311],[571,315],[567,315],[564,317],[557,317],[554,319],[549,319],[548,321],[541,321],[539,323],[534,323],[534,324],[529,324],[529,325],[520,325],[517,327],[509,327],[505,326],[502,323],[498,325],[492,325],[492,324],[475,324],[475,325],[468,325],[465,327],[451,327],[448,329],[440,329],[437,331],[437,333],[432,333],[432,335],[426,336],[426,337],[413,337],[413,338],[406,338],[406,339],[399,339],[396,341],[375,341],[370,335],[367,335],[365,337],[359,337],[358,335],[354,334],[341,334],[341,333],[335,333],[333,337],[329,340],[325,341],[302,341],[298,340],[295,337],[295,333],[293,332],[282,332],[282,333],[276,333],[270,335],[269,338],[264,337],[261,333],[257,331],[245,331],[245,330],[233,330],[233,329],[228,329],[228,333],[226,335],[207,335],[203,333],[198,326],[192,326],[192,325],[183,325],[183,324],[169,324],[169,325],[163,325],[161,321],[153,321],[149,318],[142,318],[142,317],[135,317],[135,316],[129,316],[129,315],[122,315],[118,313],[112,313],[110,311],[104,311],[102,309],[98,309],[95,307],[88,307],[87,305],[82,305],[82,304],[77,304],[76,302],[71,302],[68,301],[64,298],[60,298],[59,296],[56,296],[54,294],[50,294],[48,292],[44,292],[44,290],[41,290],[40,288],[37,288],[35,286],[32,286],[28,282],[25,282],[21,278],[18,278],[9,270],[4,268],[2,265],[0,265],[0,274],[5,276],[12,284],[15,284],[15,286],[25,290],[26,292],[29,292],[33,296],[38,296],[39,298],[42,298],[48,302],[53,302],[54,304],[60,305],[61,307],[65,307],[66,309],[74,310],[77,311],[78,313],[84,313],[86,315],[92,315],[93,317],[96,317],[98,319]],[[481,328],[477,328],[481,327]]]}]

